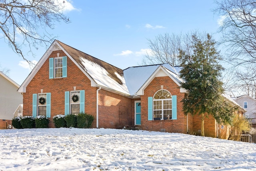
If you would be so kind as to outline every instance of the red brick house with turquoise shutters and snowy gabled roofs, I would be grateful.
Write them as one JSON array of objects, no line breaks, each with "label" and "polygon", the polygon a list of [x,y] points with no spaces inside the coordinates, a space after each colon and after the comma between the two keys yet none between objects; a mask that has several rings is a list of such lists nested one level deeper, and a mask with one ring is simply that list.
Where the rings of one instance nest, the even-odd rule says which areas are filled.
[{"label": "red brick house with turquoise shutters and snowy gabled roofs", "polygon": [[[182,111],[187,91],[179,70],[168,64],[121,70],[55,40],[18,91],[23,115],[46,115],[50,127],[55,115],[85,112],[94,116],[94,128],[198,133],[200,119]],[[205,127],[217,137],[215,119],[206,118]]]}]

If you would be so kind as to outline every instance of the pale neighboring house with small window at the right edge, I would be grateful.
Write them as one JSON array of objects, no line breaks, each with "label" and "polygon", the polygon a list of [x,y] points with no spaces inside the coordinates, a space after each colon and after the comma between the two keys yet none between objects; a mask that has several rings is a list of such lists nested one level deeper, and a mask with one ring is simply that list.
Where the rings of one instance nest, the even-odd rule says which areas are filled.
[{"label": "pale neighboring house with small window at the right edge", "polygon": [[234,99],[236,103],[246,109],[245,116],[251,119],[252,124],[256,124],[256,99],[249,95],[242,95]]}]

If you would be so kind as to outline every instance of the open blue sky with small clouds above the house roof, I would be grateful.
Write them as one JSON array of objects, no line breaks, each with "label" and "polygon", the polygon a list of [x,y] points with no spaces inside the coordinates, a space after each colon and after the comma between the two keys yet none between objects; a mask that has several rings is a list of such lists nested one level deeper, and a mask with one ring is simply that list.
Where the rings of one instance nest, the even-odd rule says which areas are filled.
[{"label": "open blue sky with small clouds above the house roof", "polygon": [[[214,0],[73,0],[66,3],[71,23],[56,23],[50,30],[58,40],[126,69],[141,64],[148,40],[164,33],[186,34],[198,30],[218,40],[219,16],[212,12]],[[13,52],[0,33],[0,66],[19,85],[30,74],[28,64]],[[26,47],[24,47],[24,50]],[[46,47],[34,51],[38,62]]]}]

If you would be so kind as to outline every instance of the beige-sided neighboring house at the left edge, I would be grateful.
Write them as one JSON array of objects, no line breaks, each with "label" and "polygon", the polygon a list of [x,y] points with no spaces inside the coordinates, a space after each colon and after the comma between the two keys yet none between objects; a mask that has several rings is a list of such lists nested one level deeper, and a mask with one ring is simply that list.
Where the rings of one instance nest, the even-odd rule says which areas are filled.
[{"label": "beige-sided neighboring house at the left edge", "polygon": [[0,72],[0,121],[12,120],[17,107],[23,103],[23,95],[16,82]]}]

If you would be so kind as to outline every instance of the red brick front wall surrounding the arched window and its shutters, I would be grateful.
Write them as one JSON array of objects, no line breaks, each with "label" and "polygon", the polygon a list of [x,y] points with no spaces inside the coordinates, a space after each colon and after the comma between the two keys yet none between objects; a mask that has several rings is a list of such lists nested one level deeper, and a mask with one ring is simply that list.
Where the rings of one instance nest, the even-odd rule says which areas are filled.
[{"label": "red brick front wall surrounding the arched window and its shutters", "polygon": [[[153,97],[156,91],[161,89],[168,90],[171,95],[177,95],[177,120],[153,120],[148,121],[148,97]],[[180,93],[180,87],[169,77],[156,77],[144,90],[144,95],[141,96],[141,128],[151,131],[161,131],[165,129],[166,132],[187,133],[187,117],[182,111],[182,102],[184,93]],[[191,121],[191,117],[188,118]],[[191,123],[189,124],[191,129]]]}]

